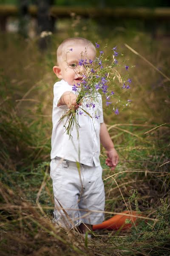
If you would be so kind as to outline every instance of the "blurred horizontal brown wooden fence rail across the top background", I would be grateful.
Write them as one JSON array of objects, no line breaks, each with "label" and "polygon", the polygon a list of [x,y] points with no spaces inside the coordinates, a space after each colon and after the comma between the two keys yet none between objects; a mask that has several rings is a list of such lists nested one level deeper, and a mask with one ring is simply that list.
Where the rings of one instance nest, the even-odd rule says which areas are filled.
[{"label": "blurred horizontal brown wooden fence rail across the top background", "polygon": [[[14,5],[0,5],[0,16],[17,16],[19,8]],[[37,16],[37,6],[28,6],[28,13]],[[170,8],[94,8],[94,7],[67,7],[51,6],[49,15],[53,17],[70,17],[71,13],[82,17],[113,17],[113,18],[140,18],[170,20]]]}]

